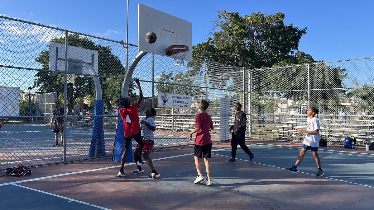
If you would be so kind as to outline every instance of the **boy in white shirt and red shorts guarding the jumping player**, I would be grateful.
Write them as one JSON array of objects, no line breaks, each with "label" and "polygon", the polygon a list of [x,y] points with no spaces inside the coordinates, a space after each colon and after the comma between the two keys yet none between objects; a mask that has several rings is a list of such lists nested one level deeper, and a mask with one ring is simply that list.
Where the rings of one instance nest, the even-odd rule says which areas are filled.
[{"label": "boy in white shirt and red shorts guarding the jumping player", "polygon": [[[148,176],[148,179],[157,179],[160,177],[160,174],[154,170],[153,163],[149,154],[152,151],[154,144],[154,134],[156,131],[156,125],[154,124],[153,116],[156,115],[156,110],[154,108],[149,108],[145,110],[145,117],[142,117],[140,126],[141,126],[141,135],[143,139],[143,157],[148,167],[151,169],[151,175]],[[137,145],[138,147],[138,145]],[[139,159],[138,149],[134,152],[134,161],[137,163]],[[143,173],[144,170],[141,169],[141,166],[138,166],[138,169],[132,172],[133,174]]]}]

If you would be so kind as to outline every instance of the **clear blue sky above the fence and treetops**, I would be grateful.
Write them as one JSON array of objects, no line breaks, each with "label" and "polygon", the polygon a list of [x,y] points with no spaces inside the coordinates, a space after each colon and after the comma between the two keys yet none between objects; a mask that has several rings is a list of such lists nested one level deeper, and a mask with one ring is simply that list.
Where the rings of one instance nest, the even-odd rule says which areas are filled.
[{"label": "clear blue sky above the fence and treetops", "polygon": [[[129,1],[129,43],[137,44],[137,4],[142,3],[192,22],[192,43],[204,41],[217,10],[285,13],[285,24],[307,28],[299,50],[315,60],[373,56],[373,1]],[[126,0],[1,0],[0,14],[58,28],[126,40]],[[184,12],[183,12],[184,11]]]}]

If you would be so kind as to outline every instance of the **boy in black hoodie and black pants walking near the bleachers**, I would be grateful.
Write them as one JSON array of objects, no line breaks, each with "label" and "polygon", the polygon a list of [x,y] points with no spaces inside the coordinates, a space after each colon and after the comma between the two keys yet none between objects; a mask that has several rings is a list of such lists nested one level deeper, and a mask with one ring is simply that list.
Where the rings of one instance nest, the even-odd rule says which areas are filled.
[{"label": "boy in black hoodie and black pants walking near the bleachers", "polygon": [[248,149],[248,146],[245,145],[245,129],[247,126],[247,117],[243,111],[240,111],[242,109],[242,105],[237,103],[235,104],[235,120],[234,125],[230,126],[229,132],[232,132],[231,135],[231,159],[227,160],[227,163],[236,163],[235,157],[236,157],[236,149],[237,145],[240,145],[240,148],[243,149],[243,151],[249,155],[249,163],[252,163],[254,160],[255,155]]}]

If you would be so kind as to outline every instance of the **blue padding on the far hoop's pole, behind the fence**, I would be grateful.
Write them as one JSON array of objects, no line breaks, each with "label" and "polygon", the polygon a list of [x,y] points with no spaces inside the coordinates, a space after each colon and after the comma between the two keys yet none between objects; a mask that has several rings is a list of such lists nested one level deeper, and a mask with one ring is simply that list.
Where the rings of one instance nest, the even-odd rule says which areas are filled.
[{"label": "blue padding on the far hoop's pole, behind the fence", "polygon": [[[93,115],[104,115],[104,100],[95,100]],[[93,118],[92,139],[89,157],[105,155],[104,117]]]}]

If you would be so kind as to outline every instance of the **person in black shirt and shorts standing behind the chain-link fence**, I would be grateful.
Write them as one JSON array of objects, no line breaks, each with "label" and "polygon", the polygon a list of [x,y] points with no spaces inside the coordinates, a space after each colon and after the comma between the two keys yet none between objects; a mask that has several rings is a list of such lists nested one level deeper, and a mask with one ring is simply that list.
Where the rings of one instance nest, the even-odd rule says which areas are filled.
[{"label": "person in black shirt and shorts standing behind the chain-link fence", "polygon": [[[53,116],[61,117],[52,117],[50,122],[50,129],[55,133],[56,143],[52,146],[64,146],[64,108],[61,107],[59,101],[55,102],[55,109],[53,110]],[[53,123],[54,122],[54,123]],[[58,133],[61,133],[61,144],[58,144]]]}]

